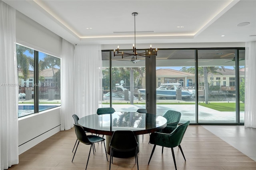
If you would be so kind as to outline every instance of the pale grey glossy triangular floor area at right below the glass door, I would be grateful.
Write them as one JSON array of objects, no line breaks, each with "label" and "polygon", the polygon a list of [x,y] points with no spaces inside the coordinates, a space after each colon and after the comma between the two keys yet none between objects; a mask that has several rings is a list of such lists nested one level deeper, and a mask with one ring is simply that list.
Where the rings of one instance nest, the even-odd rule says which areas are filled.
[{"label": "pale grey glossy triangular floor area at right below the glass door", "polygon": [[256,161],[256,128],[242,125],[203,125],[202,127]]}]

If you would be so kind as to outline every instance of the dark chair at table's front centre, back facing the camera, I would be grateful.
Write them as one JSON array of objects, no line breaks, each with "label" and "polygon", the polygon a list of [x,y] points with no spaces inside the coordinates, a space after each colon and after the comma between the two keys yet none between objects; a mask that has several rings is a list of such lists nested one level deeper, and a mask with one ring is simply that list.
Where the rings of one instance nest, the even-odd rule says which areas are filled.
[{"label": "dark chair at table's front centre, back facing the camera", "polygon": [[[114,131],[112,138],[110,140],[110,162],[109,170],[111,164],[113,164],[113,151],[121,152],[132,152],[135,154],[135,163],[137,162],[137,169],[139,170],[138,165],[138,142],[132,130],[116,130]],[[111,162],[112,160],[112,162]]]}]

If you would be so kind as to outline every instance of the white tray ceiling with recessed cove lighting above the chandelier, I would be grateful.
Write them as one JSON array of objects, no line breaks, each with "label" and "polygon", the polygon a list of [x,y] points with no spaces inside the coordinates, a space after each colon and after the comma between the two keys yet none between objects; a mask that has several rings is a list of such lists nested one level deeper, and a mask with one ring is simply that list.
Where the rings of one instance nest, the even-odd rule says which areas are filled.
[{"label": "white tray ceiling with recessed cove lighting above the chandelier", "polygon": [[3,1],[73,44],[134,43],[132,12],[136,43],[256,41],[256,0]]}]

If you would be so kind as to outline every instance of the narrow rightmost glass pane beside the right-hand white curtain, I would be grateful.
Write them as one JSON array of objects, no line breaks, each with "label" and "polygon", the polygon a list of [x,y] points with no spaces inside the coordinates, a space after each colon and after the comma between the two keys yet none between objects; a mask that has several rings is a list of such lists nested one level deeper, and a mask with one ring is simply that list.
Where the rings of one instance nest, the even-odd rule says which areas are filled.
[{"label": "narrow rightmost glass pane beside the right-hand white curtain", "polygon": [[239,50],[240,123],[244,123],[245,50]]}]

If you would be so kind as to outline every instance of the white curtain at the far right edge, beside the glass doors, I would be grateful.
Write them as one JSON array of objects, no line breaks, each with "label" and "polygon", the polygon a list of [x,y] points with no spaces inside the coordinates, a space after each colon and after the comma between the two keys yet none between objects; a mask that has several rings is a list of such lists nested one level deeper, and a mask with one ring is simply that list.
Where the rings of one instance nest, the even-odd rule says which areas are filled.
[{"label": "white curtain at the far right edge, beside the glass doors", "polygon": [[246,42],[244,126],[256,128],[256,42]]}]

